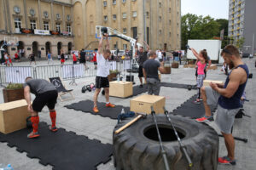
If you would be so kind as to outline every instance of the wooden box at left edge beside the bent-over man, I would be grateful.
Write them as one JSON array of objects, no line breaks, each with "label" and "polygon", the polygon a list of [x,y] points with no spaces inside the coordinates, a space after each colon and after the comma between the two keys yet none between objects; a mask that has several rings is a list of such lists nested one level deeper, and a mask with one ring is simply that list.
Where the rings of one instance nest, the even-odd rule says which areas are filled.
[{"label": "wooden box at left edge beside the bent-over man", "polygon": [[0,104],[0,132],[12,133],[26,127],[27,111],[25,99]]}]

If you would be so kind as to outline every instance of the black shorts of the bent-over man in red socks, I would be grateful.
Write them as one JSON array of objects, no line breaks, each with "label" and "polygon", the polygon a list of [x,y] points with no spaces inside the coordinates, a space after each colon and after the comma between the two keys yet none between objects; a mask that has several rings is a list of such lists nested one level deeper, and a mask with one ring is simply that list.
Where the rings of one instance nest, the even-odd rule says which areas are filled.
[{"label": "black shorts of the bent-over man in red socks", "polygon": [[44,105],[47,105],[49,109],[54,109],[57,103],[58,92],[57,90],[52,90],[44,92],[43,94],[38,94],[36,99],[32,103],[32,108],[34,111],[42,111]]}]

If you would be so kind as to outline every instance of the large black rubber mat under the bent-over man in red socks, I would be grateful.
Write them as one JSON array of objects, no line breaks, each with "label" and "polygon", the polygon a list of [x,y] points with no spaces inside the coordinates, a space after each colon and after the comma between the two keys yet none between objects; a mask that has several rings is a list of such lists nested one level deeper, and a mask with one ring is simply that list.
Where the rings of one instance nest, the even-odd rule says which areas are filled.
[{"label": "large black rubber mat under the bent-over man in red socks", "polygon": [[45,122],[39,123],[40,137],[37,139],[26,138],[30,131],[25,128],[14,133],[0,133],[0,142],[17,147],[19,152],[26,151],[28,157],[38,158],[41,164],[49,164],[54,170],[94,170],[99,164],[108,162],[113,153],[111,144],[102,144],[63,128],[52,133]]}]

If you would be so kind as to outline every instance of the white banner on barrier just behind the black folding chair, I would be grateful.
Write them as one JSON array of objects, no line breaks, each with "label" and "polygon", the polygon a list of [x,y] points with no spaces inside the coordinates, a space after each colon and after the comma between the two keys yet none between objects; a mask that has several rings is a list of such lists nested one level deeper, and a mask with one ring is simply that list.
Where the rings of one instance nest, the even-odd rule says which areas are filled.
[{"label": "white banner on barrier just behind the black folding chair", "polygon": [[84,65],[62,65],[62,78],[73,78],[84,76]]}]

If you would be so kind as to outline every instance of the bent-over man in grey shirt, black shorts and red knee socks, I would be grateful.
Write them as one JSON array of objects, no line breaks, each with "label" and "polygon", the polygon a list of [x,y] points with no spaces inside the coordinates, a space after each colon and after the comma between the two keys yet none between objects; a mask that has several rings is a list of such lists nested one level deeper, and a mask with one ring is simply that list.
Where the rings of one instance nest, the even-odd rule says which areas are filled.
[{"label": "bent-over man in grey shirt, black shorts and red knee socks", "polygon": [[[55,126],[56,122],[56,111],[55,104],[57,102],[58,92],[53,84],[44,80],[44,79],[32,79],[32,77],[26,77],[24,88],[24,97],[27,103],[27,110],[31,112],[31,122],[33,131],[27,135],[27,138],[37,138],[38,133],[38,123],[39,116],[38,112],[42,111],[44,105],[47,105],[49,108],[49,116],[52,122],[52,125],[49,126],[49,130],[52,132],[57,131]],[[36,99],[33,100],[31,104],[30,93],[36,95]]]}]

